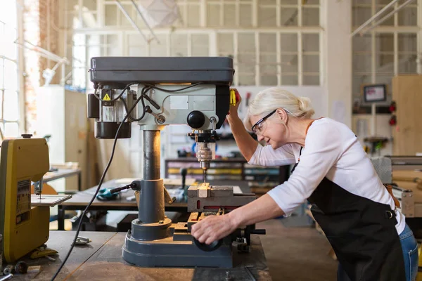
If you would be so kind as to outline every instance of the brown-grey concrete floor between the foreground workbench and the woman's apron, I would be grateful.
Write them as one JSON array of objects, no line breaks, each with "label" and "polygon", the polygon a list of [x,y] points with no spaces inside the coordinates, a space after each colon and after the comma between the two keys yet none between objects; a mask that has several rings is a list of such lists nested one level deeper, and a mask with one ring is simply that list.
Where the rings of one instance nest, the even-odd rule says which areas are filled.
[{"label": "brown-grey concrete floor between the foreground workbench and the woman's apron", "polygon": [[286,228],[280,219],[258,223],[267,235],[260,235],[274,281],[335,281],[337,261],[328,256],[326,238],[315,228]]}]

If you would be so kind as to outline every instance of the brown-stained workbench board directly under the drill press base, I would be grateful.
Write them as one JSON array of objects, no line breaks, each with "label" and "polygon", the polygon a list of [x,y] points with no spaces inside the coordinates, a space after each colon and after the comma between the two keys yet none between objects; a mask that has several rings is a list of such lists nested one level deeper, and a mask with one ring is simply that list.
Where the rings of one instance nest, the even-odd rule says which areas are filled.
[{"label": "brown-stained workbench board directly under the drill press base", "polygon": [[234,251],[234,268],[140,268],[122,259],[126,233],[117,233],[107,244],[84,263],[69,280],[225,280],[226,272],[233,280],[250,280],[246,265],[257,280],[271,280],[260,237],[252,235],[250,254]]}]

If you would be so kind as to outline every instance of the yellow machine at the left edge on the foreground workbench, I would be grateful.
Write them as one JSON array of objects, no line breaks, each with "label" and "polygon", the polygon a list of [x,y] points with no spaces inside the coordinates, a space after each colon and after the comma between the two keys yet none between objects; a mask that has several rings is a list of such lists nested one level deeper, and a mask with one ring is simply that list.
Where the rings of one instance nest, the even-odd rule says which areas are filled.
[{"label": "yellow machine at the left edge on the foreground workbench", "polygon": [[0,233],[6,262],[20,259],[49,239],[50,207],[31,206],[31,183],[36,183],[40,193],[47,171],[49,148],[44,138],[1,144]]}]

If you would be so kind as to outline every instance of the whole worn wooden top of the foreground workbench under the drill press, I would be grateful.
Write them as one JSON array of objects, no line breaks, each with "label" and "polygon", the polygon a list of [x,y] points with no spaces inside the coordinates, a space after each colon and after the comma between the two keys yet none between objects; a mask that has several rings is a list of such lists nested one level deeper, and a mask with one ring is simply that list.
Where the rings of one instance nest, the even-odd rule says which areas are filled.
[{"label": "whole worn wooden top of the foreground workbench under the drill press", "polygon": [[[238,254],[234,251],[234,268],[139,268],[122,259],[122,244],[126,233],[81,232],[80,236],[89,237],[92,242],[84,246],[75,246],[70,257],[56,280],[226,280],[227,273],[231,281],[271,280],[260,237],[251,235],[251,252]],[[61,261],[70,249],[75,231],[50,231],[47,246],[56,249],[56,261],[46,258],[23,259],[29,266],[41,266],[41,271],[16,274],[18,280],[51,280]],[[252,266],[252,267],[249,267]],[[32,279],[34,278],[34,279]]]}]

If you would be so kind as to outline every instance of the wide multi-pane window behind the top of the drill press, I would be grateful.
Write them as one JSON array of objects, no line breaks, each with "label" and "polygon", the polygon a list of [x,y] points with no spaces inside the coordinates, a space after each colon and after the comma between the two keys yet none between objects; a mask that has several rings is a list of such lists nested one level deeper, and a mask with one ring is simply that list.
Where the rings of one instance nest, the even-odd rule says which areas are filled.
[{"label": "wide multi-pane window behind the top of the drill press", "polygon": [[97,42],[88,41],[94,36],[92,29],[98,30],[97,55],[230,56],[235,86],[319,85],[321,81],[319,0],[178,0],[180,18],[174,26],[154,28],[160,43],[129,1],[121,3],[143,35],[115,1],[94,1],[96,5],[89,6],[88,0],[82,0],[82,9],[77,0],[68,1],[76,3],[68,5],[66,13],[75,30],[67,48],[74,52],[68,54],[74,62],[74,70],[69,70],[74,86],[91,88],[89,50],[98,49]]}]

